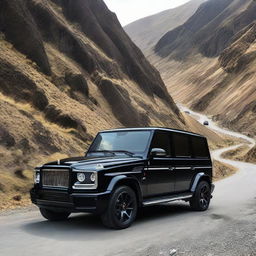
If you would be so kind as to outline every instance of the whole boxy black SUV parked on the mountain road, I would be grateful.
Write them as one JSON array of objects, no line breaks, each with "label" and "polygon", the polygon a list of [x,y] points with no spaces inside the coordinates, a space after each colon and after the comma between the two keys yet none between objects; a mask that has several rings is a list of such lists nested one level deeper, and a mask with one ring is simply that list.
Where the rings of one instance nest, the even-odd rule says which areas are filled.
[{"label": "whole boxy black SUV parked on the mountain road", "polygon": [[208,209],[214,185],[205,137],[168,128],[98,133],[85,157],[35,169],[31,199],[48,220],[71,212],[99,214],[111,228],[127,228],[139,207],[176,200]]}]

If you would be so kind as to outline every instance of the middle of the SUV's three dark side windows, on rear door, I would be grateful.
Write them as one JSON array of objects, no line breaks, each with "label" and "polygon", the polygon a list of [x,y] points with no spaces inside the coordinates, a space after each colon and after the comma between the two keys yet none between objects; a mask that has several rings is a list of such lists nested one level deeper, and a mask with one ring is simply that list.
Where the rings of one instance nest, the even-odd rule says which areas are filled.
[{"label": "middle of the SUV's three dark side windows, on rear door", "polygon": [[191,157],[188,135],[173,133],[172,142],[176,157]]}]

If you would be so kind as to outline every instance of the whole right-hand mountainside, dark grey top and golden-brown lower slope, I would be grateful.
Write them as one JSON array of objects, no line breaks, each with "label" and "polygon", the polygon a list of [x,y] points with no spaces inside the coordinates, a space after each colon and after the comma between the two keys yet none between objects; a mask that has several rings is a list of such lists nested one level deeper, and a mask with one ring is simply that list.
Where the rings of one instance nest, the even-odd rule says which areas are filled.
[{"label": "whole right-hand mountainside, dark grey top and golden-brown lower slope", "polygon": [[256,1],[208,0],[159,40],[151,60],[176,101],[256,135],[255,35]]}]

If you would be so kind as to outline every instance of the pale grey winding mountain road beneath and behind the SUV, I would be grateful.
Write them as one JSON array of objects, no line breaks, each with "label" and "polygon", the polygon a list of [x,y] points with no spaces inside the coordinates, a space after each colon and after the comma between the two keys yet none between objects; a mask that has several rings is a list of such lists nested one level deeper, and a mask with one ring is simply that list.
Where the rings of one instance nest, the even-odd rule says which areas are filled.
[{"label": "pale grey winding mountain road beneath and behind the SUV", "polygon": [[89,214],[52,223],[34,208],[15,211],[0,216],[0,255],[155,256],[169,255],[172,249],[176,255],[256,255],[256,166],[223,160],[226,150],[213,152],[213,157],[239,171],[215,184],[207,212],[192,212],[186,203],[154,206],[145,208],[129,229],[115,231]]}]

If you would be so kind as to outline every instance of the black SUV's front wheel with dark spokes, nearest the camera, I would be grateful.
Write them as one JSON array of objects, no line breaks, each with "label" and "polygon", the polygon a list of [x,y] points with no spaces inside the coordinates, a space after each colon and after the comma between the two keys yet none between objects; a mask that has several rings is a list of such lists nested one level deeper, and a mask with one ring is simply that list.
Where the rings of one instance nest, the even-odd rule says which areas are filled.
[{"label": "black SUV's front wheel with dark spokes, nearest the camera", "polygon": [[134,222],[137,212],[135,192],[128,186],[120,186],[113,192],[106,212],[101,215],[101,220],[106,227],[125,229]]}]

